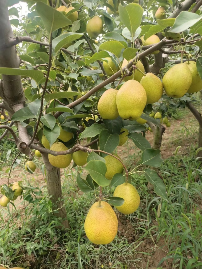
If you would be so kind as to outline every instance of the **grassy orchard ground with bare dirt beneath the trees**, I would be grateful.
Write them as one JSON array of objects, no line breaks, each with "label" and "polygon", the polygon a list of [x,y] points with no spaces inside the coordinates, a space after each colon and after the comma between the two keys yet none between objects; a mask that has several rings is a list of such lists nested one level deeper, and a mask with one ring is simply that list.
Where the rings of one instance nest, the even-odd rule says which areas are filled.
[{"label": "grassy orchard ground with bare dirt beneath the trees", "polygon": [[[83,194],[79,190],[76,183],[79,168],[61,169],[62,191],[71,229],[59,231],[56,226],[60,220],[50,214],[41,159],[35,158],[38,164],[32,175],[21,163],[11,172],[10,182],[23,180],[36,187],[35,194],[32,194],[33,203],[30,203],[30,194],[25,197],[28,200],[25,204],[20,197],[14,201],[16,209],[12,204],[9,204],[9,211],[0,207],[0,264],[30,269],[171,269],[185,268],[180,267],[184,259],[191,261],[190,266],[194,265],[189,268],[201,268],[202,170],[201,163],[195,161],[197,130],[197,121],[188,109],[179,109],[175,119],[171,120],[171,127],[163,134],[161,146],[163,164],[159,174],[166,182],[169,203],[162,201],[161,212],[157,213],[161,197],[148,188],[143,174],[134,174],[133,184],[141,197],[140,207],[128,216],[115,209],[119,220],[118,234],[106,246],[93,245],[86,238],[84,220],[95,196],[93,192]],[[146,138],[152,143],[153,134],[148,132]],[[128,140],[118,147],[117,154],[121,154],[127,166],[140,162],[141,151],[134,149],[132,143]],[[3,154],[9,145],[12,144],[8,140],[2,141]],[[175,156],[177,146],[182,148]],[[6,161],[3,154],[1,159]],[[8,183],[7,168],[3,166],[0,171],[1,184]],[[106,187],[103,193],[109,196],[113,190]],[[38,219],[34,217],[36,215]]]}]

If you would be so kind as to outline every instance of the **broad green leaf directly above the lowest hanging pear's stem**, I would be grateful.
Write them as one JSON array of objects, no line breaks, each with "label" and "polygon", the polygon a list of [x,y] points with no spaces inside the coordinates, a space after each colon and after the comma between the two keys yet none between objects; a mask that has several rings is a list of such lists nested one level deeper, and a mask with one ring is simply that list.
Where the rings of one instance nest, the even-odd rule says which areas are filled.
[{"label": "broad green leaf directly above the lowest hanging pear's stem", "polygon": [[105,178],[107,171],[106,164],[100,160],[91,160],[85,166],[85,169],[90,173],[92,179],[101,187],[108,186],[110,180]]}]

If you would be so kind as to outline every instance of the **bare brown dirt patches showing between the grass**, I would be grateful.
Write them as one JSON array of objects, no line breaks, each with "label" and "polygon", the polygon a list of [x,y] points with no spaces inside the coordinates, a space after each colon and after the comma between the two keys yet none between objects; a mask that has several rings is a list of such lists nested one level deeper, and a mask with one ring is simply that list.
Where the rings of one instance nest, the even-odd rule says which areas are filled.
[{"label": "bare brown dirt patches showing between the grass", "polygon": [[[196,146],[196,143],[198,140],[197,133],[195,134],[192,133],[190,137],[189,135],[187,135],[187,133],[180,132],[180,130],[182,130],[182,125],[190,126],[190,119],[193,119],[193,116],[191,114],[187,115],[185,120],[183,119],[183,120],[172,121],[171,127],[166,128],[165,133],[163,134],[162,146],[161,146],[161,154],[162,154],[163,159],[173,156],[177,146],[182,147],[179,150],[179,154],[181,155],[189,154],[191,145]],[[196,126],[196,123],[194,123],[194,125]],[[153,134],[148,132],[146,134],[146,138],[152,145]],[[118,154],[120,154],[121,158],[124,160],[124,158],[127,158],[129,155],[134,155],[134,154],[140,155],[140,150],[137,148],[134,150],[134,144],[131,140],[129,140],[128,149],[126,150],[126,147],[125,148],[119,147]],[[1,184],[8,183],[8,178],[7,178],[8,174],[5,173],[5,170],[6,168],[3,168],[3,171],[0,172]],[[22,180],[23,176],[25,176],[25,171],[22,168],[22,166],[21,167],[18,166],[14,171],[11,172],[10,182]],[[29,179],[30,184],[32,186],[41,187],[46,184],[43,177],[43,173],[41,172],[40,168],[36,169],[34,173],[34,178],[33,178],[33,175],[30,175],[28,173],[26,173],[26,176],[27,176],[27,179]],[[61,169],[61,180],[64,180],[63,169]],[[15,200],[15,206],[23,214],[24,203],[22,199],[20,200],[20,197],[18,197],[18,199]],[[10,204],[9,205],[10,210],[12,210],[12,207],[13,207],[12,204]],[[0,206],[0,210],[1,208],[2,207]],[[119,226],[118,226],[119,236],[126,237],[128,239],[128,242],[131,242],[131,243],[134,242],[135,232],[134,232],[134,228],[130,220],[128,220],[122,214],[117,217],[119,220]],[[148,263],[147,268],[156,269],[159,261],[163,257],[166,256],[166,253],[168,253],[168,246],[164,243],[163,239],[160,240],[159,242],[156,242],[155,236],[153,236],[152,238],[154,241],[152,241],[151,238],[146,238],[142,240],[140,245],[135,249],[138,255],[137,257],[141,258],[141,262],[137,263],[137,268],[138,266],[139,268],[146,268],[147,263]],[[36,261],[34,257],[29,257],[28,260],[29,260],[30,268],[34,268],[36,266],[35,264]],[[167,262],[164,262],[163,264],[161,264],[161,267],[165,269],[173,268],[172,260],[168,260]],[[135,269],[135,268],[131,267],[130,269]]]}]

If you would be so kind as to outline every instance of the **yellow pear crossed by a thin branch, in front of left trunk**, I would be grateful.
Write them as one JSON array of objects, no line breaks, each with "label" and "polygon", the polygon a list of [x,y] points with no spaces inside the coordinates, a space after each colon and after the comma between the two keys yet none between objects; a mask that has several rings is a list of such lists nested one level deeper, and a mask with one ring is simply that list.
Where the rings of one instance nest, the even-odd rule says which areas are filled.
[{"label": "yellow pear crossed by a thin branch, in front of left trunk", "polygon": [[[50,150],[53,151],[65,151],[68,150],[68,148],[61,142],[54,143]],[[52,164],[55,167],[58,168],[66,168],[72,161],[72,156],[71,154],[66,154],[66,155],[58,155],[58,156],[53,156],[51,154],[48,154],[48,160],[50,164]]]}]

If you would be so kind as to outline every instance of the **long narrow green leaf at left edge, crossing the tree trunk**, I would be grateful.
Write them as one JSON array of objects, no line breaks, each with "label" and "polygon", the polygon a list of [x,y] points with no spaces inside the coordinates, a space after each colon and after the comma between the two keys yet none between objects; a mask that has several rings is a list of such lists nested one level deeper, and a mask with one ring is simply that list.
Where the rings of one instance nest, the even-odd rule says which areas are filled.
[{"label": "long narrow green leaf at left edge, crossing the tree trunk", "polygon": [[43,79],[43,72],[39,70],[27,70],[21,68],[0,67],[0,74],[31,77],[37,83]]}]

